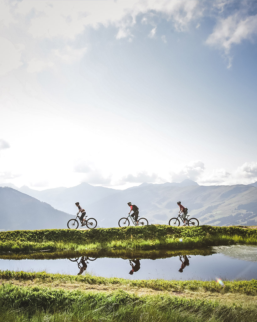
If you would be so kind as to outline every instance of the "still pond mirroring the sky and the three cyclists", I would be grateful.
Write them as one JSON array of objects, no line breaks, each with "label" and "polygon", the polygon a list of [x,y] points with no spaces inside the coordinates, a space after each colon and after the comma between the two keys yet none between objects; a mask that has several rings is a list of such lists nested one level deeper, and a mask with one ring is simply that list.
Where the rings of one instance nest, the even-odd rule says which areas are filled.
[{"label": "still pond mirroring the sky and the three cyclists", "polygon": [[250,280],[257,278],[257,246],[212,247],[212,254],[181,255],[160,259],[88,258],[44,260],[0,259],[1,270],[45,271],[124,279]]}]

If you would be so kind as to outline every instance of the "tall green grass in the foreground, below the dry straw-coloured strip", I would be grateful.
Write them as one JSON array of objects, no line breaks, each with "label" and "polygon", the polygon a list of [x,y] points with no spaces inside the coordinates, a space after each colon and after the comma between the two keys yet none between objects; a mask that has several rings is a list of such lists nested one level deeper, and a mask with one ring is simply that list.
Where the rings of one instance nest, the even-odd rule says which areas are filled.
[{"label": "tall green grass in the foreground, below the dry straw-coloured strip", "polygon": [[[137,296],[124,291],[66,291],[2,284],[0,313],[5,322],[19,321],[210,321],[257,320],[256,305],[225,305],[218,301],[170,295]],[[15,312],[16,311],[16,312]],[[14,314],[13,314],[14,312]],[[9,316],[8,316],[9,314]],[[15,320],[12,320],[12,316]]]}]

